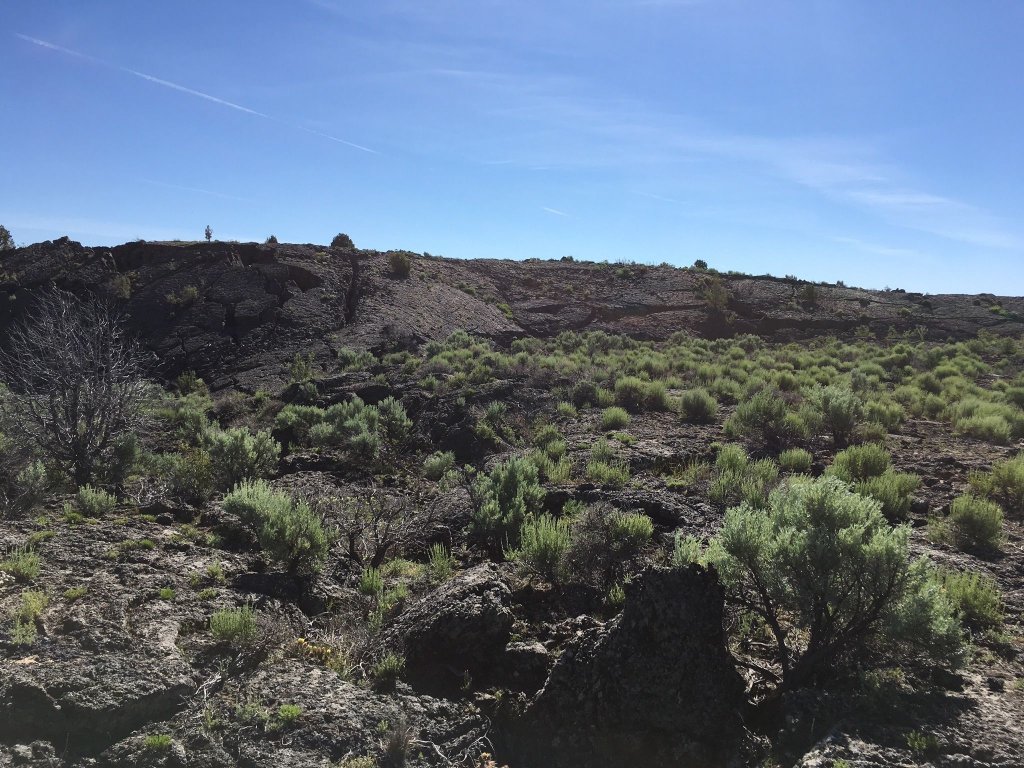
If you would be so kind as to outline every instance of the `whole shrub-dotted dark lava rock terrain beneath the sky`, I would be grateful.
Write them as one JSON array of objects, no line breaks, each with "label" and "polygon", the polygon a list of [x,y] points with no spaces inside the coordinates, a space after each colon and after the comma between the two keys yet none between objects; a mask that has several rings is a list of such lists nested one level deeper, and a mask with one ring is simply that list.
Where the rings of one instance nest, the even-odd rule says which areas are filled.
[{"label": "whole shrub-dotted dark lava rock terrain beneath the sky", "polygon": [[148,368],[88,462],[118,356],[4,372],[0,768],[1022,765],[1020,298],[62,240],[0,327],[53,284]]}]

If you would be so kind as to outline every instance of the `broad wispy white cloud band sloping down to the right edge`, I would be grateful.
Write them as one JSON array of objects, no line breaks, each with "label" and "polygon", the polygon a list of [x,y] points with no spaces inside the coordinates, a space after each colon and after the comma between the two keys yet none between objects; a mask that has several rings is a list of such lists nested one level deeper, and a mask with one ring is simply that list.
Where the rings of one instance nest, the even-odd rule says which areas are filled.
[{"label": "broad wispy white cloud band sloping down to the right edge", "polygon": [[1024,232],[1015,224],[966,201],[916,187],[910,174],[869,139],[733,133],[638,102],[572,97],[557,90],[516,97],[510,88],[502,95],[506,101],[495,108],[496,115],[544,126],[552,137],[540,148],[525,142],[518,153],[505,148],[523,167],[604,169],[666,179],[688,176],[666,170],[687,164],[720,178],[726,162],[752,179],[796,184],[906,229],[973,247],[1024,249]]}]

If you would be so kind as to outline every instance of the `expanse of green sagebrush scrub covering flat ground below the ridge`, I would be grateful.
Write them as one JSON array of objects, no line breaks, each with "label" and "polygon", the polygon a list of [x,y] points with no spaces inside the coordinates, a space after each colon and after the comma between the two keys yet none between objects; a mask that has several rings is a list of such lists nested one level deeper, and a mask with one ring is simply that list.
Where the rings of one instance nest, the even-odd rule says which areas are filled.
[{"label": "expanse of green sagebrush scrub covering flat ground below the ridge", "polygon": [[[408,256],[390,268],[409,278]],[[720,297],[714,282],[706,290]],[[134,360],[130,341],[111,344]],[[189,652],[298,657],[384,693],[407,675],[400,650],[381,645],[391,624],[485,561],[536,590],[534,615],[551,622],[613,617],[651,564],[713,566],[755,703],[806,688],[863,698],[865,676],[893,668],[925,689],[937,666],[1019,647],[996,567],[1024,515],[1024,455],[1008,447],[1024,437],[1019,340],[597,332],[502,348],[459,331],[415,350],[340,352],[337,372],[366,371],[390,392],[372,398],[326,396],[321,379],[337,372],[302,360],[287,389],[249,394],[211,392],[191,374],[160,386],[134,362],[109,382],[89,362],[71,375],[110,418],[73,416],[69,451],[68,424],[39,410],[38,376],[16,354],[3,360],[0,502],[10,520],[38,520],[0,559],[17,593],[4,601],[17,653],[60,632],[45,620],[55,604],[94,599],[36,586],[56,539],[121,518],[133,534],[109,550],[118,562],[187,541],[204,556],[251,557],[297,595],[336,585],[297,632],[264,623],[269,607],[211,564],[159,593],[205,615],[183,625]],[[955,440],[964,471],[939,477],[926,437]],[[156,509],[169,535],[147,517]],[[294,707],[260,732],[301,724]],[[385,761],[342,764],[362,757]]]}]

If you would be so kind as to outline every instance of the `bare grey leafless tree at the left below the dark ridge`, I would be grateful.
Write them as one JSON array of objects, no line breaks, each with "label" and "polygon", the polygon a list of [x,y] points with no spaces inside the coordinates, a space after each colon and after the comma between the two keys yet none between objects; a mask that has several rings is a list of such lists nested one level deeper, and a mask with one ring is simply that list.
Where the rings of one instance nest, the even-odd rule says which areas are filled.
[{"label": "bare grey leafless tree at the left below the dark ridge", "polygon": [[58,289],[39,296],[0,350],[0,409],[11,434],[91,482],[140,424],[148,385],[144,357],[108,304]]}]

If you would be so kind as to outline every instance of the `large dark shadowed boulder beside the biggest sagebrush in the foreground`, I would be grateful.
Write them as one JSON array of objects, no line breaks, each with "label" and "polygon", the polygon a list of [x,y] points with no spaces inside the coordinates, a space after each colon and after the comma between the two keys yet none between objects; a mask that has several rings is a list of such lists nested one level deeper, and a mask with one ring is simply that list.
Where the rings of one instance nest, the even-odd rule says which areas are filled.
[{"label": "large dark shadowed boulder beside the biggest sagebrush in the foreground", "polygon": [[582,633],[530,705],[529,765],[552,754],[608,768],[728,762],[744,686],[725,648],[722,609],[713,572],[644,571],[622,614]]}]

